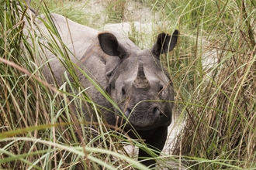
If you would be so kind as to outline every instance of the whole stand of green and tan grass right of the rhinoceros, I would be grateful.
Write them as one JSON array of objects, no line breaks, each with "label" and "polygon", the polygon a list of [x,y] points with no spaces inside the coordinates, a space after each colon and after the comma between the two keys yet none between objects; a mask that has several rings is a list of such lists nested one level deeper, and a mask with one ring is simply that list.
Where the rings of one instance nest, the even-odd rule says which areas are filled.
[{"label": "whole stand of green and tan grass right of the rhinoceros", "polygon": [[190,168],[256,166],[254,8],[251,1],[190,1],[179,10],[182,39],[192,40],[181,42],[184,59],[172,59],[186,114],[173,154]]}]

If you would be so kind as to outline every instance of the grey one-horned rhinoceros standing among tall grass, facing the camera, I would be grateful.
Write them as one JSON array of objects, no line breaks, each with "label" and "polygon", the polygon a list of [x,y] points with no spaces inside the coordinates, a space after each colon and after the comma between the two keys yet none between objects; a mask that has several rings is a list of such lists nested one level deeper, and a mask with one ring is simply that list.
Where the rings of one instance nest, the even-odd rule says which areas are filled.
[{"label": "grey one-horned rhinoceros standing among tall grass, facing the camera", "polygon": [[[151,49],[141,50],[117,32],[99,32],[62,15],[51,14],[51,17],[61,39],[70,49],[71,61],[106,89],[123,111],[122,114],[112,107],[109,100],[78,71],[81,84],[91,87],[87,90],[88,95],[96,104],[108,109],[102,109],[106,122],[112,125],[116,122],[119,125],[125,123],[125,131],[135,129],[148,147],[161,151],[171,124],[174,90],[168,71],[161,64],[160,55],[174,49],[178,30],[171,36],[167,33],[159,34]],[[46,20],[43,16],[41,18],[41,21]],[[45,29],[43,22],[38,25]],[[66,69],[60,59],[54,59],[56,56],[53,53],[48,51],[47,55],[57,83],[61,85]],[[54,82],[47,67],[43,73],[49,83]],[[130,137],[136,138],[132,132]],[[159,152],[156,154],[159,155]],[[154,166],[154,159],[144,160],[145,157],[151,156],[140,149],[139,160],[144,165]]]}]

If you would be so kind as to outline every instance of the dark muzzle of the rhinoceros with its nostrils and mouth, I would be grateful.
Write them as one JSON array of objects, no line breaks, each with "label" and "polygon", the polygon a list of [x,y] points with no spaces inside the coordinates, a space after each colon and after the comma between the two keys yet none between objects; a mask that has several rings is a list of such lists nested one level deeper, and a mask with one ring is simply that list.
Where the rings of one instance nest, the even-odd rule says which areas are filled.
[{"label": "dark muzzle of the rhinoceros with its nostrils and mouth", "polygon": [[125,116],[128,119],[128,124],[126,124],[127,128],[135,128],[136,130],[150,130],[158,126],[161,121],[161,111],[154,107],[152,109],[148,109],[147,111],[141,111],[144,108],[137,108],[131,110],[127,108],[125,111]]}]

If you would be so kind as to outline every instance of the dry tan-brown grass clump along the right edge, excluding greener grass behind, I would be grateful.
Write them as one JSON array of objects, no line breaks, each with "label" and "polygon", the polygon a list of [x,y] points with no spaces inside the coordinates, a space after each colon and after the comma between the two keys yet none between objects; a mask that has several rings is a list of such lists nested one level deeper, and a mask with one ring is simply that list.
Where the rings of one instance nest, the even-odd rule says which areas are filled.
[{"label": "dry tan-brown grass clump along the right edge, excluding greener grass behind", "polygon": [[[227,19],[216,13],[218,17],[212,18],[215,27],[209,26],[210,31],[206,34],[209,49],[201,48],[205,53],[215,48],[216,53],[210,57],[216,57],[217,63],[202,70],[186,67],[186,73],[195,68],[193,73],[197,78],[191,82],[189,96],[182,92],[178,96],[186,117],[185,128],[176,139],[173,154],[181,156],[193,169],[254,168],[255,4],[237,1],[217,5],[216,12],[222,10]],[[206,19],[207,15],[202,17],[199,19]],[[197,41],[196,46],[200,49],[198,44]]]}]

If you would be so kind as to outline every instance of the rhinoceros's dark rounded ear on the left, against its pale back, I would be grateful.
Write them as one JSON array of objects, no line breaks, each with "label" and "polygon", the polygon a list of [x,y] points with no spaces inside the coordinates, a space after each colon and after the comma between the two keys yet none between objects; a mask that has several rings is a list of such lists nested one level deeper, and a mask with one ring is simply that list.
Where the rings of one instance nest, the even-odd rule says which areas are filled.
[{"label": "rhinoceros's dark rounded ear on the left, against its pale back", "polygon": [[119,56],[123,58],[125,56],[125,49],[119,45],[116,36],[109,32],[102,32],[98,35],[99,45],[104,53],[109,56]]}]

